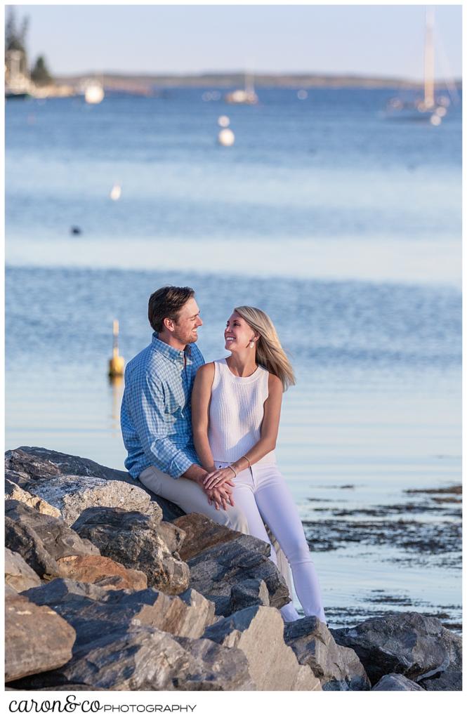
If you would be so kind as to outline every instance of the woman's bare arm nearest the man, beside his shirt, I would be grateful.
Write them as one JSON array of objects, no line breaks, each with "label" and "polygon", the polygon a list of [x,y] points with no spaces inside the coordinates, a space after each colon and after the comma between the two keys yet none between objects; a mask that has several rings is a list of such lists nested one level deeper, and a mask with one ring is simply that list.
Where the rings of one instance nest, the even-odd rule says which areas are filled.
[{"label": "woman's bare arm nearest the man, beside his shirt", "polygon": [[209,362],[207,365],[199,367],[198,372],[196,372],[191,393],[191,423],[193,426],[194,446],[199,461],[207,472],[214,470],[214,459],[207,434],[213,382],[214,362]]}]

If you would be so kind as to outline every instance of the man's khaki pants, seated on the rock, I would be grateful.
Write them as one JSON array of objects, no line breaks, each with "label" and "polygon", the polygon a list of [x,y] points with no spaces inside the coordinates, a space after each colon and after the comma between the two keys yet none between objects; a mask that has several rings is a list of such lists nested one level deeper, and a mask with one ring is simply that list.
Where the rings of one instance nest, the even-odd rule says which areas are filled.
[{"label": "man's khaki pants, seated on the rock", "polygon": [[210,505],[207,500],[207,494],[201,489],[196,482],[186,480],[184,477],[174,479],[165,472],[160,472],[157,467],[151,465],[143,470],[138,477],[142,485],[148,487],[155,494],[160,495],[164,499],[168,499],[174,504],[178,504],[183,512],[198,512],[212,519],[214,522],[223,524],[237,532],[249,534],[248,521],[242,510],[237,507],[231,507],[227,504],[227,509],[216,509],[214,505]]}]

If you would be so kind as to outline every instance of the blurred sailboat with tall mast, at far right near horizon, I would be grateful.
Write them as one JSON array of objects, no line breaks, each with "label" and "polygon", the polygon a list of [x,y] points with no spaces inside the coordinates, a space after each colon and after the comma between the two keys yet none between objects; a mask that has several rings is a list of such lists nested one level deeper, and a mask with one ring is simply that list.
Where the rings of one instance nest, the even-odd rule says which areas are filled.
[{"label": "blurred sailboat with tall mast, at far right near horizon", "polygon": [[435,13],[429,8],[425,16],[425,60],[423,99],[404,102],[400,98],[389,101],[387,111],[389,118],[407,119],[430,122],[432,125],[441,124],[442,118],[448,112],[450,100],[448,97],[435,97],[435,45],[433,30],[435,27]]}]

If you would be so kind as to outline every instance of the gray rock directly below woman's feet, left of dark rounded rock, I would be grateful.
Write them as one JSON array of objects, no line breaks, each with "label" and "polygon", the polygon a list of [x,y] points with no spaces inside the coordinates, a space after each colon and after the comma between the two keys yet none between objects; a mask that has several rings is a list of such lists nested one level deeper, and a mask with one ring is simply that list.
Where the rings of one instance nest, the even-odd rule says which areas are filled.
[{"label": "gray rock directly below woman's feet, left of dark rounded rock", "polygon": [[284,641],[300,664],[307,664],[327,692],[364,692],[371,687],[353,649],[337,646],[325,623],[304,617],[286,623]]}]

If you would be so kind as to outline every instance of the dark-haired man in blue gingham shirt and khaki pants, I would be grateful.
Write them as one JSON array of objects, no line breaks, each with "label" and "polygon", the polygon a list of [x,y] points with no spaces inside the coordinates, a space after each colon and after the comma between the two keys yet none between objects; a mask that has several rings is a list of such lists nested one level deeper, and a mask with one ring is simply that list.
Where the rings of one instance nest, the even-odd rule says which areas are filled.
[{"label": "dark-haired man in blue gingham shirt and khaki pants", "polygon": [[232,529],[248,533],[234,506],[233,483],[204,489],[191,432],[191,389],[204,359],[196,347],[203,323],[194,290],[166,286],[149,298],[153,340],[128,363],[121,424],[128,452],[125,467],[145,487]]}]

